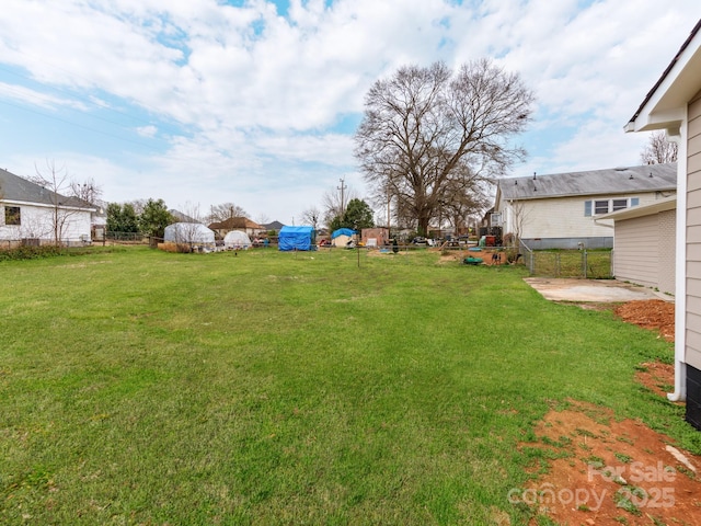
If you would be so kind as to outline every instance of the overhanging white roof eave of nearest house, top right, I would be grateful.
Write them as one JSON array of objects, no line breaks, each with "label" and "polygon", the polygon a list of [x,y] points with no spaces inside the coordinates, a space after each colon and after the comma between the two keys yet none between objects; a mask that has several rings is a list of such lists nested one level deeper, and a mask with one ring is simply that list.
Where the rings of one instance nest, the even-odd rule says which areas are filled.
[{"label": "overhanging white roof eave of nearest house, top right", "polygon": [[[701,76],[701,49],[698,45],[693,47],[690,44],[700,31],[701,20],[693,26],[667,69],[624,126],[625,132],[659,129],[679,121],[678,115],[665,114],[665,112],[686,104],[698,91]],[[654,119],[651,118],[652,113],[657,114]],[[637,122],[639,119],[641,122]]]}]

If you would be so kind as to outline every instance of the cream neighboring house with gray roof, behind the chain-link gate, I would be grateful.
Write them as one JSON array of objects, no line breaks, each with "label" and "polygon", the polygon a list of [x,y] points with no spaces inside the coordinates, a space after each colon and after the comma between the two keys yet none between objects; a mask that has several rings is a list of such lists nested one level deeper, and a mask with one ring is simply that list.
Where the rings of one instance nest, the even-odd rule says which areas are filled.
[{"label": "cream neighboring house with gray roof, behind the chain-link gate", "polygon": [[594,219],[676,193],[675,164],[502,179],[494,216],[530,249],[612,248],[612,224]]}]

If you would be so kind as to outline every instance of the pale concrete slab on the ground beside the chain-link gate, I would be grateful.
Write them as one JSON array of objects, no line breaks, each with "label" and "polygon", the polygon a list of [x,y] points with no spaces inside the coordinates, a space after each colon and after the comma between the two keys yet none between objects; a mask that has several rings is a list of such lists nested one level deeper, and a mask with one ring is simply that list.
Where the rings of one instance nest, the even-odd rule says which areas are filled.
[{"label": "pale concrete slab on the ground beside the chain-link gate", "polygon": [[673,296],[617,279],[526,277],[524,281],[545,299],[553,301],[619,302],[637,299],[674,301]]}]

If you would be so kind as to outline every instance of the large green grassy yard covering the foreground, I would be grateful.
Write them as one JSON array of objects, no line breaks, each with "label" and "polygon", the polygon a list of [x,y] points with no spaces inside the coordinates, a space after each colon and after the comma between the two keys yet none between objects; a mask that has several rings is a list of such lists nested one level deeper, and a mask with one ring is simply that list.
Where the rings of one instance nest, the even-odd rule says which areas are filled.
[{"label": "large green grassy yard covering the foreground", "polygon": [[671,345],[425,251],[0,263],[0,523],[492,524],[567,399],[692,451]]}]

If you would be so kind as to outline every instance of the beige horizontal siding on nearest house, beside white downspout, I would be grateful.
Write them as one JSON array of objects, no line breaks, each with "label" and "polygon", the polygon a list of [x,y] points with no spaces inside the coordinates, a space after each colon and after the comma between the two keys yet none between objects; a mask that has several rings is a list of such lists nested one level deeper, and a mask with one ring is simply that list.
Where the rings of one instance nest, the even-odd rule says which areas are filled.
[{"label": "beige horizontal siding on nearest house, beside white downspout", "polygon": [[701,369],[701,93],[689,103],[687,138],[686,362]]}]

